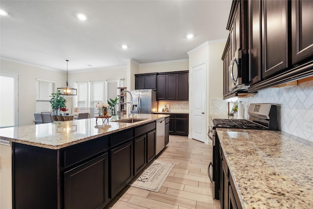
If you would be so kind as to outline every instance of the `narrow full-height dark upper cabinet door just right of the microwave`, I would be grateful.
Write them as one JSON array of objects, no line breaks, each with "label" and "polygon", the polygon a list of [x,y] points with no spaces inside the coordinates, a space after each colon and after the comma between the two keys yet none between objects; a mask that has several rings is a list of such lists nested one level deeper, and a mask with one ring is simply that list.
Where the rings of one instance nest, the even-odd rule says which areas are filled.
[{"label": "narrow full-height dark upper cabinet door just right of the microwave", "polygon": [[261,80],[261,1],[249,0],[249,84]]}]

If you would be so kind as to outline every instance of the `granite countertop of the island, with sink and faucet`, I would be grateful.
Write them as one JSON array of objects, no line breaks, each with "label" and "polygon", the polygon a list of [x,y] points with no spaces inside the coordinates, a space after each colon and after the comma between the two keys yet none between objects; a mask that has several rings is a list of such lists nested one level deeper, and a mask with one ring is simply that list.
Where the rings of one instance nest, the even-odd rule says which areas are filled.
[{"label": "granite countertop of the island, with sink and faucet", "polygon": [[[114,122],[117,116],[112,116],[105,125],[101,118],[55,121],[53,123],[18,126],[0,129],[0,139],[22,144],[28,144],[49,149],[60,149],[90,139],[112,134],[138,125],[152,122],[168,115],[132,114],[131,117],[145,118],[134,123]],[[121,119],[127,118],[126,115]]]}]

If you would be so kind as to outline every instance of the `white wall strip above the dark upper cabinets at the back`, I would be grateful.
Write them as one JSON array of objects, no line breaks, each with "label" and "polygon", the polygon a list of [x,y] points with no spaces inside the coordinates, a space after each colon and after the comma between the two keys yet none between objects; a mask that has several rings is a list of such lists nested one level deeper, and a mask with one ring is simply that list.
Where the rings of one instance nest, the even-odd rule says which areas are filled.
[{"label": "white wall strip above the dark upper cabinets at the back", "polygon": [[140,64],[138,73],[188,70],[189,69],[188,64],[189,64],[188,59]]}]

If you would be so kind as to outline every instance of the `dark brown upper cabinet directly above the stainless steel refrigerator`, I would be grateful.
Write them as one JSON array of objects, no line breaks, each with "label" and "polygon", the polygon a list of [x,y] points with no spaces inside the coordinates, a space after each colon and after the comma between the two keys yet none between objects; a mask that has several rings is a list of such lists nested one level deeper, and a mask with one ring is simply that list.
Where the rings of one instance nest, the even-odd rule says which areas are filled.
[{"label": "dark brown upper cabinet directly above the stainless steel refrigerator", "polygon": [[156,90],[156,73],[135,74],[135,89]]}]

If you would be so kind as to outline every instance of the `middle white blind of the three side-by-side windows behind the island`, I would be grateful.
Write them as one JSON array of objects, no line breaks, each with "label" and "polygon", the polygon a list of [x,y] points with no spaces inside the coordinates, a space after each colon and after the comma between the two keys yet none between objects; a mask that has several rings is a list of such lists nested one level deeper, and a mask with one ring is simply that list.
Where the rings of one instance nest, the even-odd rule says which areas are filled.
[{"label": "middle white blind of the three side-by-side windows behind the island", "polygon": [[90,107],[94,107],[94,113],[98,113],[96,105],[104,101],[104,81],[90,82]]}]

